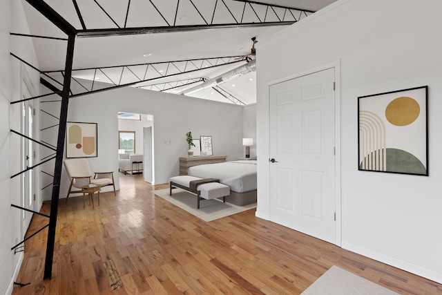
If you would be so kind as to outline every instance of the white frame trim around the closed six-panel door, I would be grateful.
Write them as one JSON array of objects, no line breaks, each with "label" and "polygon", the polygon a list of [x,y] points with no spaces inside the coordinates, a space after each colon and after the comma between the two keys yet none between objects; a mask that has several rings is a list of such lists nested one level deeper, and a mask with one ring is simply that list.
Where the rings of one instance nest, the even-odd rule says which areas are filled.
[{"label": "white frame trim around the closed six-panel door", "polygon": [[[295,73],[293,75],[287,75],[285,77],[281,77],[270,82],[267,82],[267,89],[269,95],[269,101],[267,110],[269,111],[268,116],[270,119],[270,86],[274,84],[279,84],[281,82],[286,82],[291,79],[296,79],[302,76],[311,75],[316,72],[320,72],[321,70],[327,70],[329,68],[334,68],[334,79],[335,79],[335,100],[334,100],[334,124],[335,124],[335,144],[336,144],[336,152],[335,152],[335,208],[336,208],[336,242],[335,245],[341,247],[342,245],[342,210],[341,210],[341,140],[340,140],[340,59],[336,61],[331,61],[327,64],[322,64],[320,66],[315,66],[314,68],[309,68],[307,70],[302,70],[301,72]],[[270,124],[270,121],[267,122]],[[270,129],[270,126],[268,127]],[[269,134],[267,134],[267,142],[269,142]],[[269,153],[269,148],[267,150]],[[267,155],[269,156],[269,155]],[[269,157],[267,157],[269,158]],[[268,171],[270,167],[267,166]],[[268,172],[270,173],[270,171]],[[270,176],[270,174],[269,174]],[[269,186],[271,187],[270,177],[268,178]],[[270,192],[270,191],[269,191]],[[269,202],[271,198],[269,198]]]}]

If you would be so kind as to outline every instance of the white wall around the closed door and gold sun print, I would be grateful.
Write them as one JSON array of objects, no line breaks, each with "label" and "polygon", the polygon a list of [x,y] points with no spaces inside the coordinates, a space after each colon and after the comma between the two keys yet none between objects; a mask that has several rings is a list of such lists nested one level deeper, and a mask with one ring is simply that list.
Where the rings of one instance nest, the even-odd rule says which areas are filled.
[{"label": "white wall around the closed door and gold sun print", "polygon": [[[260,44],[257,216],[271,200],[268,83],[340,61],[342,245],[442,282],[441,11],[439,0],[340,0]],[[425,85],[430,175],[358,171],[358,96]]]}]

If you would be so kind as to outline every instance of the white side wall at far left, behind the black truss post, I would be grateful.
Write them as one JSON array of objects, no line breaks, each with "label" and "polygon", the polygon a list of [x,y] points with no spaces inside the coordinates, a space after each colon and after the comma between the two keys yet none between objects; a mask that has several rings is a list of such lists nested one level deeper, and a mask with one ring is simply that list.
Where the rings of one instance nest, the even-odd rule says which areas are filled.
[{"label": "white side wall at far left, behind the black truss post", "polygon": [[[0,10],[0,187],[3,196],[0,202],[0,294],[12,292],[12,283],[23,259],[22,253],[11,251],[16,241],[23,240],[23,236],[21,211],[11,207],[11,204],[21,205],[21,177],[10,178],[21,171],[21,138],[10,133],[10,129],[21,130],[21,107],[10,102],[21,99],[22,70],[20,62],[10,53],[38,67],[31,39],[10,36],[10,32],[29,34],[21,1],[3,1]],[[28,72],[32,83],[37,85],[38,74],[31,70]],[[40,203],[39,200],[37,203]]]}]

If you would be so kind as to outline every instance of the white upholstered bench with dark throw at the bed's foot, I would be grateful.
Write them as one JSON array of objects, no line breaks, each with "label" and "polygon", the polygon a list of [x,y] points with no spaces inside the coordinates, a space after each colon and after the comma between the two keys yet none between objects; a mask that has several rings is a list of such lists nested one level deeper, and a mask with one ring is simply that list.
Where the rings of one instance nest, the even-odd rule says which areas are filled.
[{"label": "white upholstered bench with dark throw at the bed's foot", "polygon": [[226,202],[226,196],[230,195],[230,187],[221,184],[213,178],[196,178],[189,175],[175,176],[169,180],[170,196],[173,187],[179,187],[197,195],[197,208],[200,209],[200,200],[222,198]]}]

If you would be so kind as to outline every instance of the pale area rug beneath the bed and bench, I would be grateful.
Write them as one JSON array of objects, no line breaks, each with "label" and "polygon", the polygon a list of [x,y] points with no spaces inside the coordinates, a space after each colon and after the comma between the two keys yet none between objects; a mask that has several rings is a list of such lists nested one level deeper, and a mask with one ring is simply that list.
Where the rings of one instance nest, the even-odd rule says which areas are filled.
[{"label": "pale area rug beneath the bed and bench", "polygon": [[197,209],[196,196],[184,189],[173,189],[172,196],[169,196],[169,189],[159,189],[153,193],[206,222],[256,208],[256,203],[236,206],[229,202],[224,203],[222,199],[212,199],[201,200],[200,209]]}]

